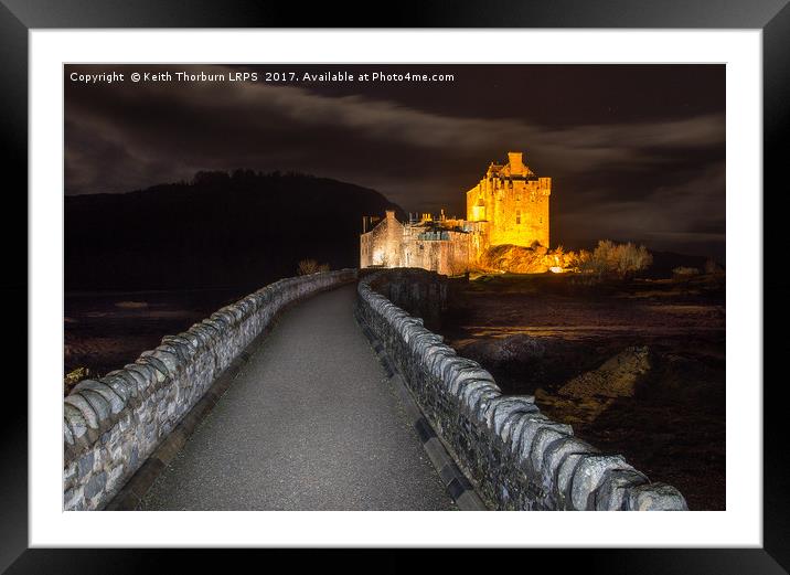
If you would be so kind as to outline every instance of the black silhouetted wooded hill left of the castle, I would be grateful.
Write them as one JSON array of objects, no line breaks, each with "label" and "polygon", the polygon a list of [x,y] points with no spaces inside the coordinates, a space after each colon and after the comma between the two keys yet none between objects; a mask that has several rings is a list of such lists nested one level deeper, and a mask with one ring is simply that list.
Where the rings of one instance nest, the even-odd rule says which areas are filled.
[{"label": "black silhouetted wooded hill left of the castle", "polygon": [[374,190],[252,170],[66,196],[65,288],[254,288],[305,258],[355,267],[362,216],[385,210],[404,215]]}]

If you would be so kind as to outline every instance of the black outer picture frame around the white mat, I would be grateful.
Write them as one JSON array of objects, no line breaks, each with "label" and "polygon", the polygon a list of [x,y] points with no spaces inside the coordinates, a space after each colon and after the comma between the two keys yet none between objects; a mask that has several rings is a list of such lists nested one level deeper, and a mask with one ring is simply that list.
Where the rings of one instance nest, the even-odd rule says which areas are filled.
[{"label": "black outer picture frame around the white mat", "polygon": [[[382,7],[380,7],[382,8]],[[384,18],[385,17],[385,18]],[[332,2],[317,7],[296,2],[254,0],[217,2],[193,0],[0,0],[0,77],[2,102],[2,155],[9,188],[3,194],[7,216],[15,213],[18,226],[0,226],[6,246],[7,279],[0,286],[7,300],[7,333],[13,332],[15,353],[7,364],[26,365],[28,342],[23,307],[28,298],[28,256],[18,246],[26,237],[20,214],[26,213],[28,189],[28,32],[31,29],[70,28],[670,28],[759,29],[764,50],[764,263],[777,262],[784,238],[779,224],[787,184],[781,180],[787,163],[790,119],[790,6],[788,0],[553,0],[474,1],[463,4],[424,0],[401,1],[386,10],[349,7]],[[728,159],[732,161],[733,159]],[[783,185],[782,185],[783,184]],[[728,191],[729,193],[729,191]],[[11,206],[9,202],[17,201]],[[24,235],[23,235],[24,234]],[[762,273],[756,262],[755,273]],[[10,270],[13,269],[13,274]],[[761,549],[707,550],[562,550],[563,564],[579,562],[594,572],[607,573],[788,573],[790,568],[790,449],[786,447],[787,402],[781,377],[771,377],[790,349],[787,328],[788,284],[780,274],[764,275],[764,546]],[[737,297],[737,295],[736,295]],[[13,305],[11,305],[13,302]],[[26,330],[24,330],[26,334]],[[24,342],[24,343],[22,343]],[[9,351],[12,348],[7,348]],[[780,372],[778,372],[780,373]],[[26,373],[24,373],[26,381]],[[8,379],[3,387],[0,444],[0,571],[8,573],[118,573],[146,568],[164,571],[154,551],[28,549],[28,393]],[[765,382],[770,381],[766,385]],[[11,384],[11,382],[14,382]],[[192,561],[205,562],[204,552],[190,551]],[[534,551],[534,554],[551,552]],[[556,552],[554,552],[556,553]],[[183,566],[186,552],[175,562]],[[456,558],[466,562],[463,553]],[[172,561],[172,556],[168,562]],[[340,561],[344,561],[340,558]],[[370,560],[376,568],[392,568]],[[403,569],[399,569],[403,571]]]}]

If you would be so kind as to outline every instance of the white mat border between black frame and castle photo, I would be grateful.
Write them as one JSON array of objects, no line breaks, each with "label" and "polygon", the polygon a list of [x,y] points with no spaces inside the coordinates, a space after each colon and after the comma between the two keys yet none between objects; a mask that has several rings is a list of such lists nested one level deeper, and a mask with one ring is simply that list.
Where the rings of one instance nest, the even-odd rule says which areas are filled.
[{"label": "white mat border between black frame and castle photo", "polygon": [[[31,546],[761,546],[760,31],[35,30],[30,47]],[[63,512],[65,62],[726,62],[727,275],[736,295],[727,307],[727,511]]]}]

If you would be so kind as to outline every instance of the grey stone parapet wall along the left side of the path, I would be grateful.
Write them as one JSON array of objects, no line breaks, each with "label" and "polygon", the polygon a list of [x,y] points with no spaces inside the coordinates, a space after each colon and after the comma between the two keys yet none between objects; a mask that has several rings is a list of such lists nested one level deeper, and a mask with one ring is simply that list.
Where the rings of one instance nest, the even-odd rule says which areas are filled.
[{"label": "grey stone parapet wall along the left side of the path", "polygon": [[343,269],[281,279],[78,383],[63,406],[64,509],[102,509],[284,306],[355,278]]}]

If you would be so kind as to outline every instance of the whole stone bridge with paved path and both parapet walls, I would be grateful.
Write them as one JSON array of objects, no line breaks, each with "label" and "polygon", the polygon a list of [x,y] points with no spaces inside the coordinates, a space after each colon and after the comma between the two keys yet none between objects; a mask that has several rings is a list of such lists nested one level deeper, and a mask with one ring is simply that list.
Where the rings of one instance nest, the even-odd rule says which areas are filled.
[{"label": "whole stone bridge with paved path and both parapet walls", "polygon": [[533,397],[502,395],[417,317],[441,305],[440,278],[408,283],[282,279],[81,382],[64,509],[686,509]]}]

